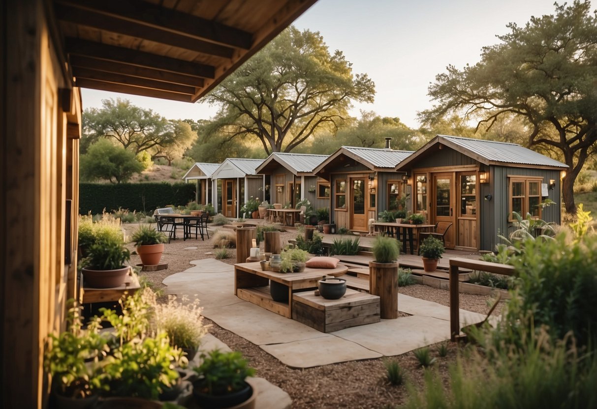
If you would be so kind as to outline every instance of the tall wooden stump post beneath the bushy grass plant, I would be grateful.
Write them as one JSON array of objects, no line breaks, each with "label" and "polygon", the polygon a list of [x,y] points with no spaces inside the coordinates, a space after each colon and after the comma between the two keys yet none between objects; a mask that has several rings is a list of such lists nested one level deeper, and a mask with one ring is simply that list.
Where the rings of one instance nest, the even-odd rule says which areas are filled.
[{"label": "tall wooden stump post beneath the bushy grass plant", "polygon": [[398,263],[369,262],[369,289],[380,298],[381,318],[398,318]]}]

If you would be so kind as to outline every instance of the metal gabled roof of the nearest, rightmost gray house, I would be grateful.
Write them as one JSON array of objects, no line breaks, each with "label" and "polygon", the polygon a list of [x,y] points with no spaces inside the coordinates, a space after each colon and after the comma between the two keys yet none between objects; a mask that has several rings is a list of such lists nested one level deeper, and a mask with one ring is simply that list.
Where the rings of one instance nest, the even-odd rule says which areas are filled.
[{"label": "metal gabled roof of the nearest, rightmost gray house", "polygon": [[562,162],[551,159],[536,151],[522,147],[518,144],[498,141],[484,141],[463,137],[451,137],[448,135],[437,135],[419,148],[407,160],[396,166],[396,171],[406,169],[417,158],[424,157],[435,151],[439,145],[452,148],[479,163],[485,165],[509,165],[518,167],[540,167],[540,168],[568,168]]}]

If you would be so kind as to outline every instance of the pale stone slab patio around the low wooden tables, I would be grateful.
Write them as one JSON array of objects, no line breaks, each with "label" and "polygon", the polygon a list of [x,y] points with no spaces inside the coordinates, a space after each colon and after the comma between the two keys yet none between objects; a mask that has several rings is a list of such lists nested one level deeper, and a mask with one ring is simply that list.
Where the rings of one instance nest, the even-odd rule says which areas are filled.
[{"label": "pale stone slab patio around the low wooden tables", "polygon": [[[205,317],[259,345],[289,367],[399,355],[450,338],[447,306],[402,294],[398,295],[398,308],[410,317],[325,334],[237,298],[232,265],[216,259],[191,263],[195,266],[165,278],[166,292],[199,298]],[[461,326],[483,318],[460,310]]]}]

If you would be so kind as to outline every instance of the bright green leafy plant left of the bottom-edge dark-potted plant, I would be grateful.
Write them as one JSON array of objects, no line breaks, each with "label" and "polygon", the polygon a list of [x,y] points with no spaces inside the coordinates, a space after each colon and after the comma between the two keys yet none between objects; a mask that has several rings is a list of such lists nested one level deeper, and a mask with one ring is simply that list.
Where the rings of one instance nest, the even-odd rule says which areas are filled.
[{"label": "bright green leafy plant left of the bottom-edge dark-potted plant", "polygon": [[165,333],[122,344],[103,366],[109,379],[107,395],[158,399],[179,379],[175,364],[182,356],[180,349],[170,346]]}]

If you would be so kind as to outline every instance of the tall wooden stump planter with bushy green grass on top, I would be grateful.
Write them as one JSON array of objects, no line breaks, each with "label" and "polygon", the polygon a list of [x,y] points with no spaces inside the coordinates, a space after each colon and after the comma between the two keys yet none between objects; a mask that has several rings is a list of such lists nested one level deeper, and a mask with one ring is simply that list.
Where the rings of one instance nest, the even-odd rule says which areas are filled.
[{"label": "tall wooden stump planter with bushy green grass on top", "polygon": [[381,318],[398,318],[399,241],[392,237],[377,236],[371,251],[375,261],[369,262],[370,293],[380,296]]}]

